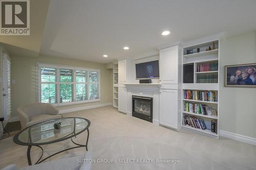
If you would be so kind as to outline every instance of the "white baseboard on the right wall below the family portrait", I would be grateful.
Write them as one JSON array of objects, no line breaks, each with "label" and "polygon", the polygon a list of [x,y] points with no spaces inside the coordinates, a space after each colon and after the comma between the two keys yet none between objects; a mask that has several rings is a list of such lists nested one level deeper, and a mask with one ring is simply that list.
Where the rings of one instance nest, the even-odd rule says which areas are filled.
[{"label": "white baseboard on the right wall below the family portrait", "polygon": [[256,138],[220,130],[220,136],[256,145]]}]

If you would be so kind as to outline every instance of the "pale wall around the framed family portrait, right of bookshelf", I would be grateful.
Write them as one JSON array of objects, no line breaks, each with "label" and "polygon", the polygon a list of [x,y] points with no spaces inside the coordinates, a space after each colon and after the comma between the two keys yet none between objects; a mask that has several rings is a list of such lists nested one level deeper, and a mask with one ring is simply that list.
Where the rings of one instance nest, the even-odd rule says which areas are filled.
[{"label": "pale wall around the framed family portrait, right of bookshelf", "polygon": [[227,37],[220,56],[220,130],[256,138],[256,88],[224,86],[225,65],[256,63],[256,31]]}]

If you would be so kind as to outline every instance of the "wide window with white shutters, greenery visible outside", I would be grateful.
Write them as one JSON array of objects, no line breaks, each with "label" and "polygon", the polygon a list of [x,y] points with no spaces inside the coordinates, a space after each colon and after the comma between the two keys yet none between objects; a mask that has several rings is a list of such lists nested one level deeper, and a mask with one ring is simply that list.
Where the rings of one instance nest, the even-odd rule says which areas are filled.
[{"label": "wide window with white shutters, greenery visible outside", "polygon": [[99,70],[38,64],[38,102],[54,105],[100,100]]}]

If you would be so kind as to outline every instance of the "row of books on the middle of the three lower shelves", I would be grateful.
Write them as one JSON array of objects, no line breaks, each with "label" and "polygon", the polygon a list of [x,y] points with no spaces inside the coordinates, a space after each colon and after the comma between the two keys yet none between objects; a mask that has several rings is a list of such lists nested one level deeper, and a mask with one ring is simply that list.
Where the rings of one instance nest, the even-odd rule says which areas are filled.
[{"label": "row of books on the middle of the three lower shelves", "polygon": [[210,115],[210,116],[218,116],[217,111],[215,109],[212,109],[211,107],[199,104],[199,103],[184,103],[184,111],[195,113],[195,114],[204,114],[204,115]]}]

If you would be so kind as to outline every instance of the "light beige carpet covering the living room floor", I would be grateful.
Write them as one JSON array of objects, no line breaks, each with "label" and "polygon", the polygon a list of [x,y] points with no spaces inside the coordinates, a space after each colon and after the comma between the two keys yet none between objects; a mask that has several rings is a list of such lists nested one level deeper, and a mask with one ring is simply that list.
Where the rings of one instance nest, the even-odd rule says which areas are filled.
[{"label": "light beige carpet covering the living room floor", "polygon": [[[155,126],[145,120],[101,107],[62,114],[85,117],[91,121],[89,151],[93,159],[178,159],[179,163],[94,163],[92,169],[256,169],[256,146],[220,138],[215,139],[188,130],[179,132]],[[84,132],[75,141],[85,143]],[[27,166],[27,147],[11,137],[0,141],[0,168],[16,163]],[[44,145],[45,155],[67,148],[70,140]],[[32,147],[32,161],[40,150]],[[85,153],[83,148],[56,155],[47,161]]]}]

